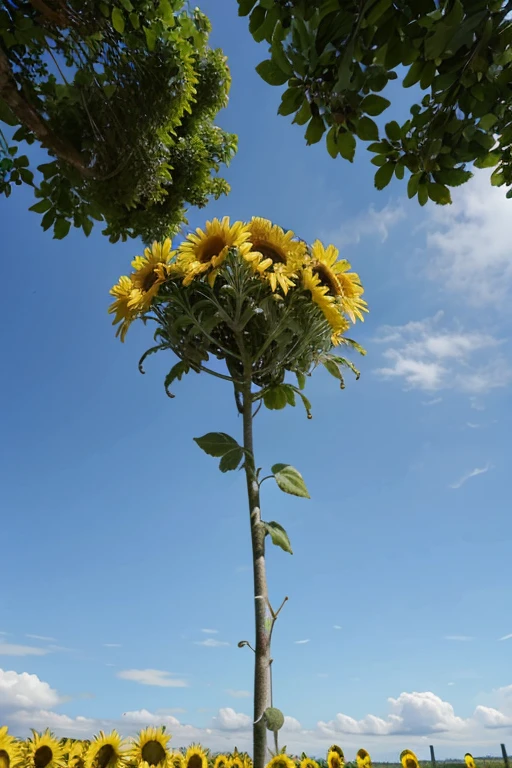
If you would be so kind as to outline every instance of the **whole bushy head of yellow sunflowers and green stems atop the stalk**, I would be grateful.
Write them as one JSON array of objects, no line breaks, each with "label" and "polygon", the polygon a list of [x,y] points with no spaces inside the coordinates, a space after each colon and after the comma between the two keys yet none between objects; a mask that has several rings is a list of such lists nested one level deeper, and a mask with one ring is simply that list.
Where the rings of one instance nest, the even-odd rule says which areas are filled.
[{"label": "whole bushy head of yellow sunflowers and green stems atop the stalk", "polygon": [[262,218],[213,219],[176,249],[153,243],[132,267],[111,289],[117,335],[156,320],[152,351],[176,353],[178,378],[217,358],[235,382],[250,365],[256,385],[279,384],[332,345],[354,344],[346,333],[367,311],[359,276],[333,245],[308,245]]}]

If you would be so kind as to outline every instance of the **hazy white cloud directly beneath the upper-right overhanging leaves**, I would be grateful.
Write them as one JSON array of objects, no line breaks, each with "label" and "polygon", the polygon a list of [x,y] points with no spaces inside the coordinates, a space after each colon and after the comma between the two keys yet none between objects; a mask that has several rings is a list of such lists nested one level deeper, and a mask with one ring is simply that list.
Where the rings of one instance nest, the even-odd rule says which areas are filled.
[{"label": "hazy white cloud directly beneath the upper-right overhanging leaves", "polygon": [[453,205],[432,206],[427,224],[427,274],[475,306],[502,301],[512,285],[512,216],[504,187],[491,187],[489,173],[453,195]]}]

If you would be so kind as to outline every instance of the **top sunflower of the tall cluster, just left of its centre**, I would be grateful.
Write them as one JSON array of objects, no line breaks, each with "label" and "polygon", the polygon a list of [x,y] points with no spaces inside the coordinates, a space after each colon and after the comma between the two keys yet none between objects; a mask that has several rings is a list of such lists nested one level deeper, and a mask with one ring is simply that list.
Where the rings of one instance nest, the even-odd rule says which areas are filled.
[{"label": "top sunflower of the tall cluster, just left of its centre", "polygon": [[219,267],[230,248],[238,248],[245,256],[250,251],[249,230],[242,221],[229,223],[229,216],[222,221],[207,221],[204,231],[199,227],[187,235],[179,247],[178,266],[185,274],[183,285],[190,285],[194,278],[208,272],[208,282],[213,285]]}]

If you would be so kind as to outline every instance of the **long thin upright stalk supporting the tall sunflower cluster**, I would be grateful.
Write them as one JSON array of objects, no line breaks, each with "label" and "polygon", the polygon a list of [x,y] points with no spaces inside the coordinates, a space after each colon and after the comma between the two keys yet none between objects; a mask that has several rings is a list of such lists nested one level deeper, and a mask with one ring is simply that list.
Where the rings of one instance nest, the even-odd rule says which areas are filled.
[{"label": "long thin upright stalk supporting the tall sunflower cluster", "polygon": [[267,574],[265,569],[265,530],[261,524],[260,489],[256,477],[253,451],[253,415],[250,378],[242,392],[245,474],[251,521],[252,558],[254,571],[254,613],[256,644],[254,660],[254,725],[253,760],[254,768],[264,768],[267,758],[267,729],[263,719],[265,709],[270,706],[270,639],[266,627],[267,616]]}]

